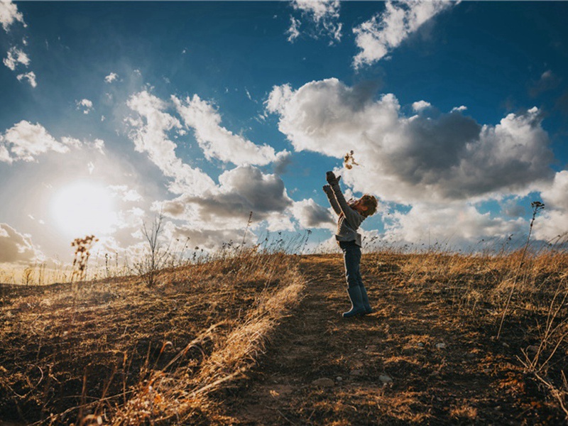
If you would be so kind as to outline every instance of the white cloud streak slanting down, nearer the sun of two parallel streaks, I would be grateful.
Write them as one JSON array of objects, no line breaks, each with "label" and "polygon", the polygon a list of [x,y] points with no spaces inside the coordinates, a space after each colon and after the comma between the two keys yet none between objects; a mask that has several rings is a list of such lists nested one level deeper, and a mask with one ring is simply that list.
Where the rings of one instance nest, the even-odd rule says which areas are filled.
[{"label": "white cloud streak slanting down, nearer the sun of two parallel streaks", "polygon": [[214,187],[214,182],[199,168],[192,168],[175,155],[176,144],[168,138],[168,132],[181,129],[180,121],[165,112],[168,104],[148,92],[140,92],[130,97],[128,106],[139,115],[131,119],[130,138],[135,149],[148,153],[150,160],[168,178],[173,178],[170,191],[199,195]]}]

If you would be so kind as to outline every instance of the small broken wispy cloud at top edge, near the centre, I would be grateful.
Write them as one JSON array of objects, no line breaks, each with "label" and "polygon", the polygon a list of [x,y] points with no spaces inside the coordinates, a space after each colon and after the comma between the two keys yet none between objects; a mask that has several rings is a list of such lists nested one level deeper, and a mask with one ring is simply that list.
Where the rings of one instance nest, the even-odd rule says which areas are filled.
[{"label": "small broken wispy cloud at top edge, near the centre", "polygon": [[[292,6],[308,21],[307,34],[313,38],[329,37],[333,43],[342,38],[342,23],[339,22],[339,0],[293,0]],[[290,16],[288,41],[300,36],[300,20]]]}]

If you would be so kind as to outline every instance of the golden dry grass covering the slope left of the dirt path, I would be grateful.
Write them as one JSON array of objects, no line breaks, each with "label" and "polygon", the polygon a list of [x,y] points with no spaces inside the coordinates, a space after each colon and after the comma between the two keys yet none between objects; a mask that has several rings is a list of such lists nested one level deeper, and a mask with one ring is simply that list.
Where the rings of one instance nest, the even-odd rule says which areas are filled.
[{"label": "golden dry grass covering the slope left of the dirt path", "polygon": [[3,288],[1,417],[207,417],[207,395],[243,376],[301,288],[293,256],[254,249],[161,271],[153,288],[136,276]]}]

